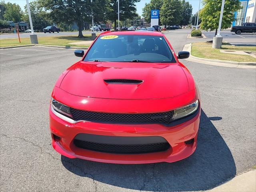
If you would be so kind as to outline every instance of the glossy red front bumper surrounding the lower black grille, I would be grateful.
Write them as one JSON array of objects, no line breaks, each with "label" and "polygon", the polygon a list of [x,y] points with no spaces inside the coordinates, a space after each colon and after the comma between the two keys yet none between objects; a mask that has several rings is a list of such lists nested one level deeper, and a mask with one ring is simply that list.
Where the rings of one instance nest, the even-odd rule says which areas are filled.
[{"label": "glossy red front bumper surrounding the lower black grille", "polygon": [[[51,108],[49,113],[52,146],[57,152],[68,158],[80,158],[96,162],[117,164],[144,164],[175,162],[187,158],[196,150],[200,107],[193,118],[174,126],[164,126],[161,124],[102,124],[85,121],[72,124],[57,117],[51,111]],[[96,152],[78,148],[74,145],[74,138],[81,133],[102,136],[161,136],[171,147],[163,152],[146,154],[111,154]],[[193,138],[194,142],[185,144],[185,141]]]}]

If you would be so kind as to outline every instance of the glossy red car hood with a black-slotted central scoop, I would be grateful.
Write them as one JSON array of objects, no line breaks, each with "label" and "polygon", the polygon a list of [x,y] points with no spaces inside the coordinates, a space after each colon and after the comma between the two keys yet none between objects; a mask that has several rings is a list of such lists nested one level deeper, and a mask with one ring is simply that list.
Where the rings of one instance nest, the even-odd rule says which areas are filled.
[{"label": "glossy red car hood with a black-slotted central scoop", "polygon": [[[141,82],[120,83],[124,80]],[[77,96],[109,99],[170,98],[189,90],[186,75],[176,63],[130,62],[78,62],[60,88]]]}]

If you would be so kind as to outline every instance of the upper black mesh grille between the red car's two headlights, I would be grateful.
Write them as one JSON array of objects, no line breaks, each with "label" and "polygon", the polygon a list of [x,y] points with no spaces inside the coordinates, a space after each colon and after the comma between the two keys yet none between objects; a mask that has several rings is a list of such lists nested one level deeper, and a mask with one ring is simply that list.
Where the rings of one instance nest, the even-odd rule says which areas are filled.
[{"label": "upper black mesh grille between the red car's two headlights", "polygon": [[91,122],[106,122],[120,124],[138,123],[168,123],[172,118],[172,111],[162,113],[143,114],[122,114],[122,113],[102,113],[91,112],[70,108],[74,120],[85,120]]}]

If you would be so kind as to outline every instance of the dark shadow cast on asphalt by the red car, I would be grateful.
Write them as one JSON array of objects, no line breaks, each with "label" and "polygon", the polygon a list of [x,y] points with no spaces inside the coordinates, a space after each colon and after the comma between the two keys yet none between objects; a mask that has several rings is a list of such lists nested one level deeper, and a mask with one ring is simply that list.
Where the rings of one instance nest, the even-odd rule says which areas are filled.
[{"label": "dark shadow cast on asphalt by the red car", "polygon": [[236,174],[232,154],[211,122],[221,119],[208,118],[202,110],[196,152],[178,162],[125,165],[62,156],[62,164],[78,176],[132,190],[207,190],[233,178]]}]

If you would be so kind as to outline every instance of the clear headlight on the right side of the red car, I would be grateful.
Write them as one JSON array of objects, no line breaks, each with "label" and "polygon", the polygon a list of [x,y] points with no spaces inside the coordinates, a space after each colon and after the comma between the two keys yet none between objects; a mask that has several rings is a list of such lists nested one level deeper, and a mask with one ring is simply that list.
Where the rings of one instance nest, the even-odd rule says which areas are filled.
[{"label": "clear headlight on the right side of the red car", "polygon": [[188,116],[188,115],[194,113],[197,110],[197,108],[198,108],[198,100],[196,100],[196,102],[194,102],[188,106],[184,106],[182,108],[175,109],[173,112],[172,120],[177,120],[182,117]]}]

